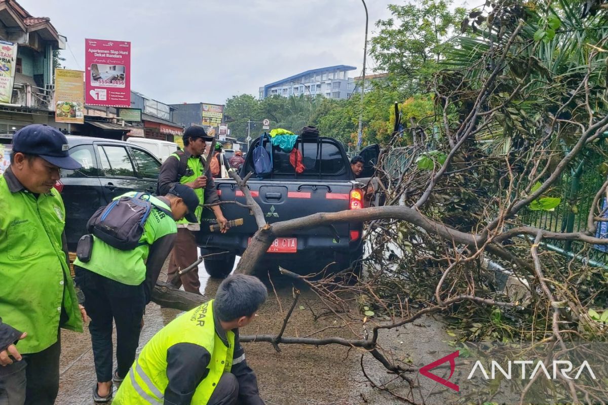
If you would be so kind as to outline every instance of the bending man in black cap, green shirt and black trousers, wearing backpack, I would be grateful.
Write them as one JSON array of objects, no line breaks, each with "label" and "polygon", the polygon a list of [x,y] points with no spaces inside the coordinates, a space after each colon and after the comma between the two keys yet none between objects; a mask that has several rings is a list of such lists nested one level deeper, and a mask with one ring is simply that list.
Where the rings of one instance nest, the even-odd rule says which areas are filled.
[{"label": "bending man in black cap, green shirt and black trousers, wearing backpack", "polygon": [[[89,331],[97,373],[97,384],[93,387],[95,402],[110,401],[112,381],[120,383],[133,364],[143,310],[150,302],[151,291],[178,231],[175,221],[184,217],[195,220],[194,213],[199,203],[193,189],[181,184],[171,187],[162,197],[128,192],[114,200],[121,197],[145,200],[151,204],[137,247],[121,250],[93,236],[90,254],[83,254],[79,242],[79,257],[74,262],[76,282],[85,293],[85,308],[91,316]],[[104,212],[106,216],[112,215],[112,211]],[[94,217],[99,214],[100,211]],[[110,222],[123,223],[121,217]],[[116,324],[117,337],[117,369],[114,372],[112,321]]]}]

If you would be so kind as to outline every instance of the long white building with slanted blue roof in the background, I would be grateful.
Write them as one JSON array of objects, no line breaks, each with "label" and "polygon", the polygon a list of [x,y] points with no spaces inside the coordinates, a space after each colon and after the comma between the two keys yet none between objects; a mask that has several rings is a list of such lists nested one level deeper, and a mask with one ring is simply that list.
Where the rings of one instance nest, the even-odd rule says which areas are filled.
[{"label": "long white building with slanted blue roof in the background", "polygon": [[355,91],[353,78],[348,77],[354,66],[337,65],[306,70],[285,79],[260,87],[260,100],[272,95],[291,97],[318,94],[327,98],[349,98]]}]

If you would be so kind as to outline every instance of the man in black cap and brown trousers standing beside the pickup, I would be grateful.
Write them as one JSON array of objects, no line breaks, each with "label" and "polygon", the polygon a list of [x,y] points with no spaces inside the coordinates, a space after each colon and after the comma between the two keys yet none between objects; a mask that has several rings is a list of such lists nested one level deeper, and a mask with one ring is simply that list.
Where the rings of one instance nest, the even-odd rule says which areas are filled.
[{"label": "man in black cap and brown trousers standing beside the pickup", "polygon": [[[184,151],[177,151],[169,155],[161,166],[158,179],[159,194],[165,194],[171,186],[183,184],[192,188],[198,196],[201,204],[213,204],[219,202],[218,193],[215,190],[213,179],[207,179],[205,175],[204,153],[207,146],[206,141],[212,141],[201,126],[191,126],[184,131]],[[222,214],[219,205],[212,206],[213,214],[219,225],[223,226],[222,232],[227,231],[227,219]],[[178,237],[175,241],[167,278],[181,277],[184,290],[190,293],[200,294],[201,282],[198,279],[198,271],[195,269],[179,276],[178,268],[186,268],[196,261],[196,239],[193,231],[200,229],[202,207],[196,210],[196,221],[186,220],[178,222]]]}]

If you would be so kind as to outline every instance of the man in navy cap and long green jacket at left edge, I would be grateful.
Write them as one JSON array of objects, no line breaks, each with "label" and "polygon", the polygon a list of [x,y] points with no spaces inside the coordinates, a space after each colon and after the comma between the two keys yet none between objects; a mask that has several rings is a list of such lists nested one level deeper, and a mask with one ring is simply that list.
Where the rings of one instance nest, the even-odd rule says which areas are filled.
[{"label": "man in navy cap and long green jacket at left edge", "polygon": [[[13,135],[0,175],[0,403],[55,403],[59,328],[82,332],[63,233],[65,209],[53,188],[60,169],[79,169],[67,139],[33,124]],[[7,401],[7,402],[6,402]]]}]

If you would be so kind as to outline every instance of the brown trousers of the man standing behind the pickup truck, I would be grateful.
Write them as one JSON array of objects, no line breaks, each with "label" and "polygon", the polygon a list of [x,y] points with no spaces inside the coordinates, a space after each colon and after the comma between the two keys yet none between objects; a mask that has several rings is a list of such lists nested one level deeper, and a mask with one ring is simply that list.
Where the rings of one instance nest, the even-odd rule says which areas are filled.
[{"label": "brown trousers of the man standing behind the pickup truck", "polygon": [[186,228],[178,228],[178,236],[171,251],[167,280],[171,281],[174,277],[180,277],[179,285],[184,284],[184,290],[188,293],[200,294],[201,281],[198,279],[198,269],[188,271],[182,276],[178,276],[178,268],[184,269],[193,264],[198,259],[196,250],[196,238],[194,233]]}]

